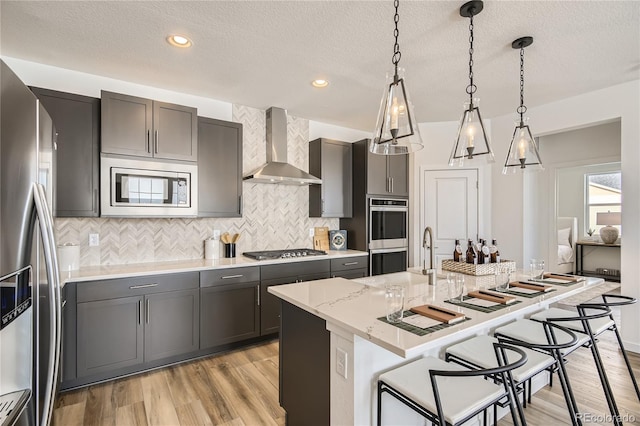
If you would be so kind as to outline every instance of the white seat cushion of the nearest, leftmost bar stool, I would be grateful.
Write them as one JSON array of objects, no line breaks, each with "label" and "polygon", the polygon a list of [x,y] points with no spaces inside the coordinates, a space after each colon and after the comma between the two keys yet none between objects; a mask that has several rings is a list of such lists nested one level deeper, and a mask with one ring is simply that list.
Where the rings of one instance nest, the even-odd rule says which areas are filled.
[{"label": "white seat cushion of the nearest, leftmost bar stool", "polygon": [[[437,413],[429,370],[466,369],[439,358],[426,357],[384,373],[378,380],[428,411]],[[505,394],[503,386],[482,377],[438,377],[437,383],[444,417],[449,424],[460,423]]]}]

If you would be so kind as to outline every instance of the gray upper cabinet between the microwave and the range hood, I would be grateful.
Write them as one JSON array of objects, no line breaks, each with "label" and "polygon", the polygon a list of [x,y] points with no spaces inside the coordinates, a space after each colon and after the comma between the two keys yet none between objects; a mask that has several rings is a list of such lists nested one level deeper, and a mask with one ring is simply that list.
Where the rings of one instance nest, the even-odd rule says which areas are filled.
[{"label": "gray upper cabinet between the microwave and the range hood", "polygon": [[198,216],[242,216],[242,124],[198,117]]}]

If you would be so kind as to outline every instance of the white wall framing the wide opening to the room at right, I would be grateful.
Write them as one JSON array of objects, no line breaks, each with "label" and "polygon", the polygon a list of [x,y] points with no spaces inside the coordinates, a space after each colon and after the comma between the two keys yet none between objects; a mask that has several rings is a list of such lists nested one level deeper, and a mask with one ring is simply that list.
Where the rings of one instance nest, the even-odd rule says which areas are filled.
[{"label": "white wall framing the wide opening to the room at right", "polygon": [[[622,294],[640,297],[640,80],[620,84],[558,102],[530,108],[530,125],[536,136],[559,133],[615,120],[621,122],[622,190],[624,211],[622,227]],[[492,135],[496,158],[504,158],[508,142],[498,145],[496,140],[509,140],[513,117],[492,119]],[[501,175],[501,167],[493,167],[492,221],[494,235],[501,241],[501,252],[513,251],[522,265],[526,209],[521,175]],[[626,278],[625,278],[626,277]],[[640,309],[637,306],[622,310],[622,335],[625,345],[640,352]]]}]

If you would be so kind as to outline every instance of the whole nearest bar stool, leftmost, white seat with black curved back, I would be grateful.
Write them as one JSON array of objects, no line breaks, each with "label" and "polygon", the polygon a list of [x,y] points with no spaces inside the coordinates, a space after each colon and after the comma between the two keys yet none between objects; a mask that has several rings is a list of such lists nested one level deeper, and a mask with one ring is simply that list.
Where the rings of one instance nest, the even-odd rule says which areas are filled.
[{"label": "whole nearest bar stool, leftmost, white seat with black curved back", "polygon": [[[525,424],[511,371],[522,367],[527,355],[520,348],[501,343],[494,343],[493,351],[496,368],[465,370],[439,358],[425,357],[381,374],[378,378],[378,426],[382,424],[383,393],[441,426],[459,425],[480,413],[484,413],[486,424],[486,410],[507,397],[514,425]],[[518,359],[509,363],[507,351],[517,353]],[[430,383],[426,380],[427,374]],[[484,380],[483,376],[500,377],[501,385]]]}]

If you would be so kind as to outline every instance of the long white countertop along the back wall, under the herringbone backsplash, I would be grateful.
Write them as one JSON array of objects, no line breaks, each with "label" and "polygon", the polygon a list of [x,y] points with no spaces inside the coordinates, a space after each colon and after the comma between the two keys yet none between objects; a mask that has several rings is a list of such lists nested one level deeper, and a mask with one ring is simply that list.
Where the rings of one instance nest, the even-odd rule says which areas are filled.
[{"label": "long white countertop along the back wall, under the herringbone backsplash", "polygon": [[124,265],[104,265],[83,267],[76,271],[60,271],[62,284],[67,282],[95,281],[112,278],[139,277],[155,274],[206,271],[210,269],[241,268],[246,266],[264,266],[293,262],[307,262],[324,259],[340,259],[368,255],[358,250],[328,250],[326,255],[296,257],[290,259],[254,260],[238,254],[234,258],[193,259],[167,262],[132,263]]}]

